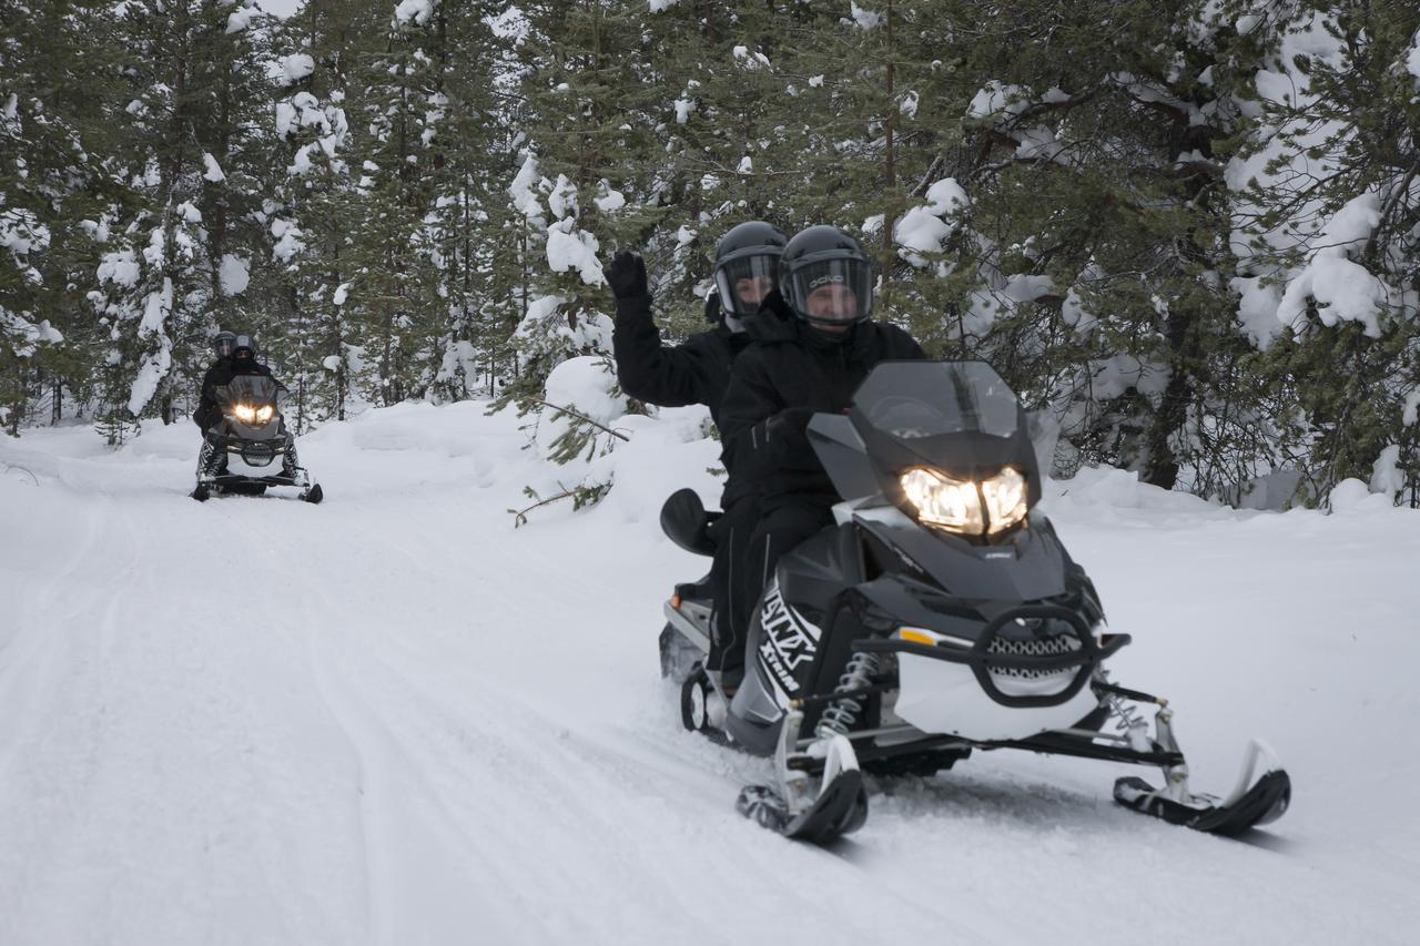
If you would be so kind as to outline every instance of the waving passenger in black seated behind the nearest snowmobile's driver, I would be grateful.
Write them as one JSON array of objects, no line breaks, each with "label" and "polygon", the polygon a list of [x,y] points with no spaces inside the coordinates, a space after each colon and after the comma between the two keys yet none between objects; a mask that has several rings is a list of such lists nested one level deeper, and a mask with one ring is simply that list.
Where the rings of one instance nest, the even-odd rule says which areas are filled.
[{"label": "waving passenger in black seated behind the nearest snowmobile's driver", "polygon": [[[788,240],[763,220],[731,227],[716,244],[716,291],[706,300],[706,318],[716,328],[692,335],[676,347],[660,342],[660,332],[650,320],[650,293],[646,264],[630,253],[618,253],[606,274],[616,295],[616,327],[612,349],[616,378],[622,391],[646,403],[679,408],[703,403],[720,425],[720,402],[730,384],[734,359],[750,344],[746,322],[775,288],[780,254]],[[724,510],[710,527],[716,544],[710,584],[714,594],[714,639],[706,659],[719,670],[743,659],[743,639],[734,636],[728,619],[736,562],[744,560],[754,528],[755,503],[751,483],[726,487],[720,506]]]}]

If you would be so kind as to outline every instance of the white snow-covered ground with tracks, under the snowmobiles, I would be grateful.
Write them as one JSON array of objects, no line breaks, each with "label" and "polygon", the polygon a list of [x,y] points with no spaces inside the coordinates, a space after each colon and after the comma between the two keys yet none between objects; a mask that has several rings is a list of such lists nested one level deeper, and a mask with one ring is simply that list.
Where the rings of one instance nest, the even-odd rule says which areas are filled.
[{"label": "white snow-covered ground with tracks, under the snowmobiles", "polygon": [[1265,736],[1292,811],[1225,841],[1115,807],[1126,767],[977,754],[879,783],[825,851],[734,814],[764,763],[659,678],[703,565],[655,511],[713,489],[713,445],[514,530],[551,480],[523,443],[479,405],[373,411],[302,442],[307,506],[186,499],[190,426],[0,440],[0,943],[1420,936],[1420,516],[1054,486],[1135,635],[1116,679],[1173,699],[1198,787]]}]

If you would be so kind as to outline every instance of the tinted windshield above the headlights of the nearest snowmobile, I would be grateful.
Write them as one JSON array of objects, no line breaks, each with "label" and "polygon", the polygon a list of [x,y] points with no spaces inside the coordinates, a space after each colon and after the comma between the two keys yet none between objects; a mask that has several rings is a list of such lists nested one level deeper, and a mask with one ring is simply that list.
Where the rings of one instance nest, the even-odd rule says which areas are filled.
[{"label": "tinted windshield above the headlights of the nearest snowmobile", "polygon": [[853,406],[876,430],[897,440],[949,433],[1011,437],[1020,402],[983,361],[899,361],[876,368],[853,396]]}]

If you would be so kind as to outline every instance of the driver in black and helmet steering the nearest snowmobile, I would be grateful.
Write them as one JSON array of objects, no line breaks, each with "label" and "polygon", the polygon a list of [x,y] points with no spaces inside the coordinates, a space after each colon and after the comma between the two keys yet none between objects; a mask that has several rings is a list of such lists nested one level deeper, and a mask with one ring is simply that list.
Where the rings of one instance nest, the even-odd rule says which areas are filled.
[{"label": "driver in black and helmet steering the nearest snowmobile", "polygon": [[[853,237],[831,226],[798,233],[780,260],[782,300],[765,300],[753,325],[757,344],[730,374],[720,408],[727,489],[748,482],[760,490],[757,526],[731,592],[741,639],[780,555],[834,521],[839,496],[808,442],[809,419],[846,411],[878,362],[926,358],[912,335],[870,321],[873,281],[872,261]],[[791,318],[774,314],[784,307]]]}]

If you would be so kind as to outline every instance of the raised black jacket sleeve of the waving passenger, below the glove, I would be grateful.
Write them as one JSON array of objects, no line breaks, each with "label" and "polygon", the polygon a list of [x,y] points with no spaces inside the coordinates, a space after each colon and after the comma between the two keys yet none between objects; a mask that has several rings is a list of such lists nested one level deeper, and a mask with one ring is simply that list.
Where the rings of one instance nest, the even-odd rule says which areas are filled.
[{"label": "raised black jacket sleeve of the waving passenger, below the glove", "polygon": [[700,352],[689,344],[660,344],[660,330],[650,320],[649,295],[616,301],[612,352],[616,358],[616,379],[632,398],[662,408],[709,402],[707,374]]}]

